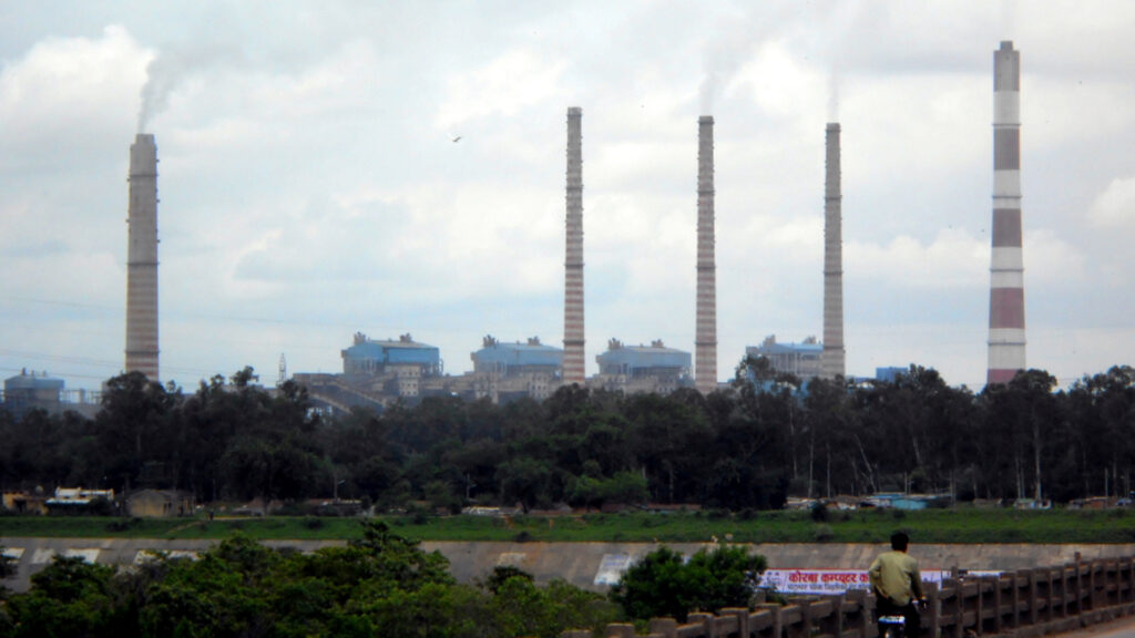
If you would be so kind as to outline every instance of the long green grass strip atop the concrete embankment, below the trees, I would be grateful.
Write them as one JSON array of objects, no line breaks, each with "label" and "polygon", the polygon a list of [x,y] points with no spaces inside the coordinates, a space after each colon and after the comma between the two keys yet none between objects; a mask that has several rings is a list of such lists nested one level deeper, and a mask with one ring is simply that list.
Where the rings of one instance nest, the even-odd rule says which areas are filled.
[{"label": "long green grass strip atop the concrete embankment, below the trees", "polygon": [[[882,543],[898,529],[918,543],[1135,543],[1135,511],[1015,511],[959,507],[901,512],[717,512],[681,514],[585,514],[555,518],[381,517],[397,534],[421,540],[529,540],[700,543]],[[354,519],[268,517],[246,519],[116,519],[98,517],[0,517],[2,537],[227,538],[243,531],[257,539],[347,539]]]}]

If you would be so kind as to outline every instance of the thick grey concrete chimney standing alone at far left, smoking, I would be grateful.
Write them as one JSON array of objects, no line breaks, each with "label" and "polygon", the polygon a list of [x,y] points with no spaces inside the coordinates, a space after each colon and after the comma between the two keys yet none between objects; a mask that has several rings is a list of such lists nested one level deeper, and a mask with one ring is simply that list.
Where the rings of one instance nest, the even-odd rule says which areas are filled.
[{"label": "thick grey concrete chimney standing alone at far left, smoking", "polygon": [[140,133],[131,145],[126,257],[126,371],[158,380],[158,148]]}]

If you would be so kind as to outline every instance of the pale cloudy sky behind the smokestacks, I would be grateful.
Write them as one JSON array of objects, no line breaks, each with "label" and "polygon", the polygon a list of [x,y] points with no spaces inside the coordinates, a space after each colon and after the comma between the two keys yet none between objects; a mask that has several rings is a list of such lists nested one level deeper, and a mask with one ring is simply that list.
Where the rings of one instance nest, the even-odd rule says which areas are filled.
[{"label": "pale cloudy sky behind the smokestacks", "polygon": [[[161,372],[342,369],[355,331],[471,368],[562,345],[583,109],[588,373],[692,352],[716,120],[718,376],[822,334],[843,135],[848,372],[984,385],[992,58],[1022,51],[1028,366],[1135,363],[1135,3],[0,0],[0,373],[123,368],[129,144],[160,157]],[[461,136],[459,142],[453,137]]]}]

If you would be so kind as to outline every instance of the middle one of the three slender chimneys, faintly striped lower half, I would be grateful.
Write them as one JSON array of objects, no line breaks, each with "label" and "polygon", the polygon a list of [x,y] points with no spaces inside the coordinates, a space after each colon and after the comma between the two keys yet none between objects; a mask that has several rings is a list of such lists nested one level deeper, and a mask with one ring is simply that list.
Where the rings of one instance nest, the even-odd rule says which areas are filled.
[{"label": "middle one of the three slender chimneys, faintly striped lower half", "polygon": [[698,118],[698,299],[693,385],[717,387],[717,275],[714,258],[713,117]]}]

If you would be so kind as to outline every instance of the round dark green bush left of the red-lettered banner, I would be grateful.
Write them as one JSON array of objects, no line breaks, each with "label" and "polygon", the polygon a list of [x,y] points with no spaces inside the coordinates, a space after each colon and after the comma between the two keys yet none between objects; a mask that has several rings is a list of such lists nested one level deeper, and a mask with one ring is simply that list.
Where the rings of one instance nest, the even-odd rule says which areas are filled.
[{"label": "round dark green bush left of the red-lettered banner", "polygon": [[684,622],[695,611],[748,608],[754,586],[767,566],[764,556],[750,554],[742,546],[700,549],[689,561],[661,547],[623,573],[611,589],[611,599],[629,618],[675,618]]}]

